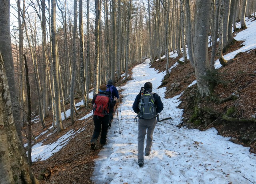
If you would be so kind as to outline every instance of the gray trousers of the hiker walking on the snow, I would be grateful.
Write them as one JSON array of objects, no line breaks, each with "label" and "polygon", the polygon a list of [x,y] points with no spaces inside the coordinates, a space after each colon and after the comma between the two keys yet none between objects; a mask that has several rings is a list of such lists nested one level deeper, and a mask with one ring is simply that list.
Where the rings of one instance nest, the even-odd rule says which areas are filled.
[{"label": "gray trousers of the hiker walking on the snow", "polygon": [[156,127],[156,117],[152,119],[139,119],[138,124],[138,159],[144,159],[144,139],[147,134],[145,152],[150,153],[153,143],[153,132]]}]

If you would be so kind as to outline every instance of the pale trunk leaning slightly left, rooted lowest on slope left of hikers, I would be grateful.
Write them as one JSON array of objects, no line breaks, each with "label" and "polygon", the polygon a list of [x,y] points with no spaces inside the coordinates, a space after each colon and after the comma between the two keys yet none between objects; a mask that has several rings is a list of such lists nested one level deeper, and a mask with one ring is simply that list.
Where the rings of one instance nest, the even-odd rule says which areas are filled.
[{"label": "pale trunk leaning slightly left, rooted lowest on slope left of hikers", "polygon": [[63,130],[60,111],[60,86],[58,75],[57,39],[56,39],[56,0],[52,0],[52,73],[54,79],[55,114],[58,132]]}]

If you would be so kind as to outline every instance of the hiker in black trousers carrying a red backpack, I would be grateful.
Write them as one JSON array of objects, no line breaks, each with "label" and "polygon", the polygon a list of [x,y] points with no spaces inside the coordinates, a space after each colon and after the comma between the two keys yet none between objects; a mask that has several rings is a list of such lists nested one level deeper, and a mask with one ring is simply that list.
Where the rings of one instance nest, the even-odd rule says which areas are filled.
[{"label": "hiker in black trousers carrying a red backpack", "polygon": [[107,86],[105,84],[100,85],[98,94],[95,94],[92,98],[93,104],[93,121],[94,132],[91,139],[91,149],[96,149],[96,142],[100,135],[100,145],[106,143],[106,136],[108,132],[109,123],[109,110],[116,105],[116,99],[110,100],[110,97],[106,94]]}]

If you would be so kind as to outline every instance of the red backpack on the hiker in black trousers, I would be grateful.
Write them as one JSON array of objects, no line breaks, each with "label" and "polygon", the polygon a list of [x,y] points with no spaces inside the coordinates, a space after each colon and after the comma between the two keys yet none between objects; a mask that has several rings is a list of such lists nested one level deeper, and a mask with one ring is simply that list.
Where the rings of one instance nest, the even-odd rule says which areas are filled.
[{"label": "red backpack on the hiker in black trousers", "polygon": [[107,95],[98,94],[93,104],[94,115],[104,117],[105,115],[109,114],[108,103],[109,97]]}]

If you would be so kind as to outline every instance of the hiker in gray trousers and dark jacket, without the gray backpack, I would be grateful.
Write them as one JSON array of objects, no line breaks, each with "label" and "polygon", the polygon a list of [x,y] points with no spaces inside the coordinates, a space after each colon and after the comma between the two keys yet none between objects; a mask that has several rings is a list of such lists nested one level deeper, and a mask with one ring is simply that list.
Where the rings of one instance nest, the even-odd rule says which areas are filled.
[{"label": "hiker in gray trousers and dark jacket, without the gray backpack", "polygon": [[[152,93],[152,83],[146,82],[144,84],[144,94]],[[141,98],[141,92],[136,96],[134,103],[132,105],[132,109],[135,113],[140,112],[139,104]],[[164,104],[161,101],[160,96],[158,94],[153,93],[154,97],[154,106],[156,107],[156,113],[160,113],[164,109]],[[153,132],[156,127],[156,116],[152,119],[143,119],[143,116],[139,116],[138,123],[138,165],[141,167],[144,165],[144,139],[147,134],[146,139],[146,147],[145,147],[145,156],[150,155],[152,141],[153,141]]]}]

